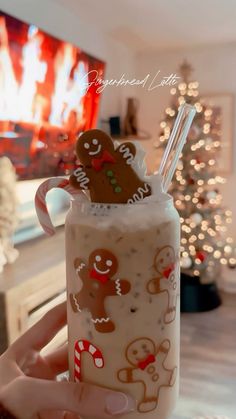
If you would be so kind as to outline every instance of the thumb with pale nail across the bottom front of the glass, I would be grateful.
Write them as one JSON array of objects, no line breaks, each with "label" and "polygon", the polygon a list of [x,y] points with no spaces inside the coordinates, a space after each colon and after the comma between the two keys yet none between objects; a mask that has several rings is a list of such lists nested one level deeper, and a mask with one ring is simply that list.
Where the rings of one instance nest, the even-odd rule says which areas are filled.
[{"label": "thumb with pale nail across the bottom front of the glass", "polygon": [[18,377],[1,393],[1,402],[19,419],[44,410],[63,410],[93,419],[108,419],[135,410],[134,399],[87,383]]}]

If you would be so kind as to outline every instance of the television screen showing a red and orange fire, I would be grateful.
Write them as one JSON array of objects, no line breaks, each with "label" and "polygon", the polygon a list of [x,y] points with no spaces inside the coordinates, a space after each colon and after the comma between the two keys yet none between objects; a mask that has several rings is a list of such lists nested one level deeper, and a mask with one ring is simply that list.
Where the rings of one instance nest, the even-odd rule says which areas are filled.
[{"label": "television screen showing a red and orange fire", "polygon": [[69,174],[76,136],[96,126],[103,61],[0,12],[0,156],[19,179]]}]

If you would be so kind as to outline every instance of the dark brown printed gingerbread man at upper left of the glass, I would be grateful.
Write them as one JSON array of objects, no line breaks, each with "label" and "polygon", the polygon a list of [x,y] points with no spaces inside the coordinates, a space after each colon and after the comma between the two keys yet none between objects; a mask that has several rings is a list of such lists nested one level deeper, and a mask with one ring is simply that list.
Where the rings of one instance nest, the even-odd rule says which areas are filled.
[{"label": "dark brown printed gingerbread man at upper left of the glass", "polygon": [[88,265],[77,258],[74,267],[83,286],[77,294],[70,294],[73,311],[88,309],[98,332],[113,332],[115,325],[106,313],[104,301],[107,297],[125,295],[130,290],[126,279],[112,279],[118,270],[117,258],[109,250],[96,249],[90,254]]}]

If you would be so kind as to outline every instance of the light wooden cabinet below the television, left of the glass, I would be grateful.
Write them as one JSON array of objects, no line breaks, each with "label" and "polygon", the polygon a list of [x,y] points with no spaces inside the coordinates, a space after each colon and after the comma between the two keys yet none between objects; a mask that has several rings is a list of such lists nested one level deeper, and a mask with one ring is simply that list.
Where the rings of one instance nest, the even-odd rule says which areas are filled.
[{"label": "light wooden cabinet below the television, left of the glass", "polygon": [[[0,353],[50,308],[66,299],[64,228],[18,247],[20,256],[0,274]],[[66,328],[46,350],[67,340]]]}]

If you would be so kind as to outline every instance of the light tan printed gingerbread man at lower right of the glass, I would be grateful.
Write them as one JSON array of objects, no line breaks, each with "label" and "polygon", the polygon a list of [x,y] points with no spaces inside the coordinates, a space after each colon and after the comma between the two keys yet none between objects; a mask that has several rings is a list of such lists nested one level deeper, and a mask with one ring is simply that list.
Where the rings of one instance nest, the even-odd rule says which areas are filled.
[{"label": "light tan printed gingerbread man at lower right of the glass", "polygon": [[177,367],[168,369],[165,366],[170,351],[170,341],[165,339],[159,346],[149,338],[139,338],[131,342],[125,352],[131,367],[118,371],[122,383],[141,383],[143,397],[139,401],[138,411],[151,412],[156,409],[162,387],[173,387]]}]

